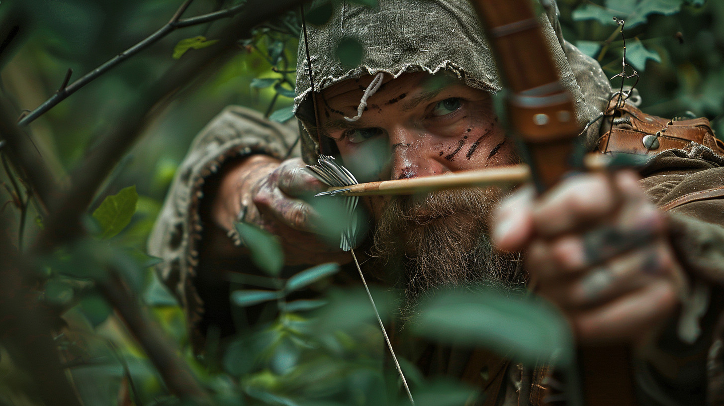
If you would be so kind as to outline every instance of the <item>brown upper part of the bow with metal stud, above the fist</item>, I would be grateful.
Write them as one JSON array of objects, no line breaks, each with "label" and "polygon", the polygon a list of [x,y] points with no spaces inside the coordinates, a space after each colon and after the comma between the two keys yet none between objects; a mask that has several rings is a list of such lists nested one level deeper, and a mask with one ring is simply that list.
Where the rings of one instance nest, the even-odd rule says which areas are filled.
[{"label": "brown upper part of the bow with metal stud, above the fist", "polygon": [[529,0],[473,0],[497,57],[498,70],[510,89],[508,117],[526,147],[539,191],[571,170],[573,140],[581,128],[568,91]]}]

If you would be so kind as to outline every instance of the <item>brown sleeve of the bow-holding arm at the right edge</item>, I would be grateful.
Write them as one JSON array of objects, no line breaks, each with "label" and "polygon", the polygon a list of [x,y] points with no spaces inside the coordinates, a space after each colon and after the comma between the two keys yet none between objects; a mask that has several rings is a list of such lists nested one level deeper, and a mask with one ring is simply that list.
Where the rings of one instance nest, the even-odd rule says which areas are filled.
[{"label": "brown sleeve of the bow-holding arm at the right edge", "polygon": [[639,360],[637,382],[654,405],[704,405],[722,399],[724,391],[717,354],[724,305],[724,159],[690,144],[654,157],[644,175],[649,199],[669,214],[670,241],[689,293],[678,317]]}]

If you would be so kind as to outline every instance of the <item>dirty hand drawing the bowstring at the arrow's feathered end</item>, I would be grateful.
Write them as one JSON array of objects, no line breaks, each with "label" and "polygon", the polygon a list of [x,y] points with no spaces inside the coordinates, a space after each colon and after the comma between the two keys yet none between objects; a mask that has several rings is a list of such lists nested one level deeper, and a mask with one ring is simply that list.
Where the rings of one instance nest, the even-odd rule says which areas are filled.
[{"label": "dirty hand drawing the bowstring at the arrow's feathered end", "polygon": [[214,196],[214,221],[231,230],[241,210],[246,210],[245,223],[279,237],[287,265],[349,262],[349,253],[321,240],[319,214],[300,199],[326,189],[304,167],[299,158],[279,162],[253,155],[244,159],[222,174]]}]

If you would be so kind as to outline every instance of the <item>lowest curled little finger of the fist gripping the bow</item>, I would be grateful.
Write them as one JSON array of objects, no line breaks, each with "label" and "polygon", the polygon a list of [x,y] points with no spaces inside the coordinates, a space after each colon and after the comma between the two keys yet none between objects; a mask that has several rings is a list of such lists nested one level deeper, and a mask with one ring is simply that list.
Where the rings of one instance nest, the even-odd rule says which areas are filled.
[{"label": "lowest curled little finger of the fist gripping the bow", "polygon": [[583,344],[637,344],[636,340],[649,336],[668,320],[677,305],[673,284],[657,281],[613,303],[574,316],[573,329]]}]

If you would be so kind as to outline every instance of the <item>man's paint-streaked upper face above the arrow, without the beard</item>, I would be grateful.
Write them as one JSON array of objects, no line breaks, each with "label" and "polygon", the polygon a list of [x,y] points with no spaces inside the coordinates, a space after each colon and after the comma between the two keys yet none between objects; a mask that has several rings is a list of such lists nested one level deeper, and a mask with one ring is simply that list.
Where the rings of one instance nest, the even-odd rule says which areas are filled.
[{"label": "man's paint-streaked upper face above the arrow, without the beard", "polygon": [[[357,107],[372,76],[345,80],[317,99],[323,133],[334,139],[344,165],[360,182],[418,178],[515,163],[490,95],[460,80],[426,72],[405,73]],[[379,219],[383,196],[366,204]]]}]

